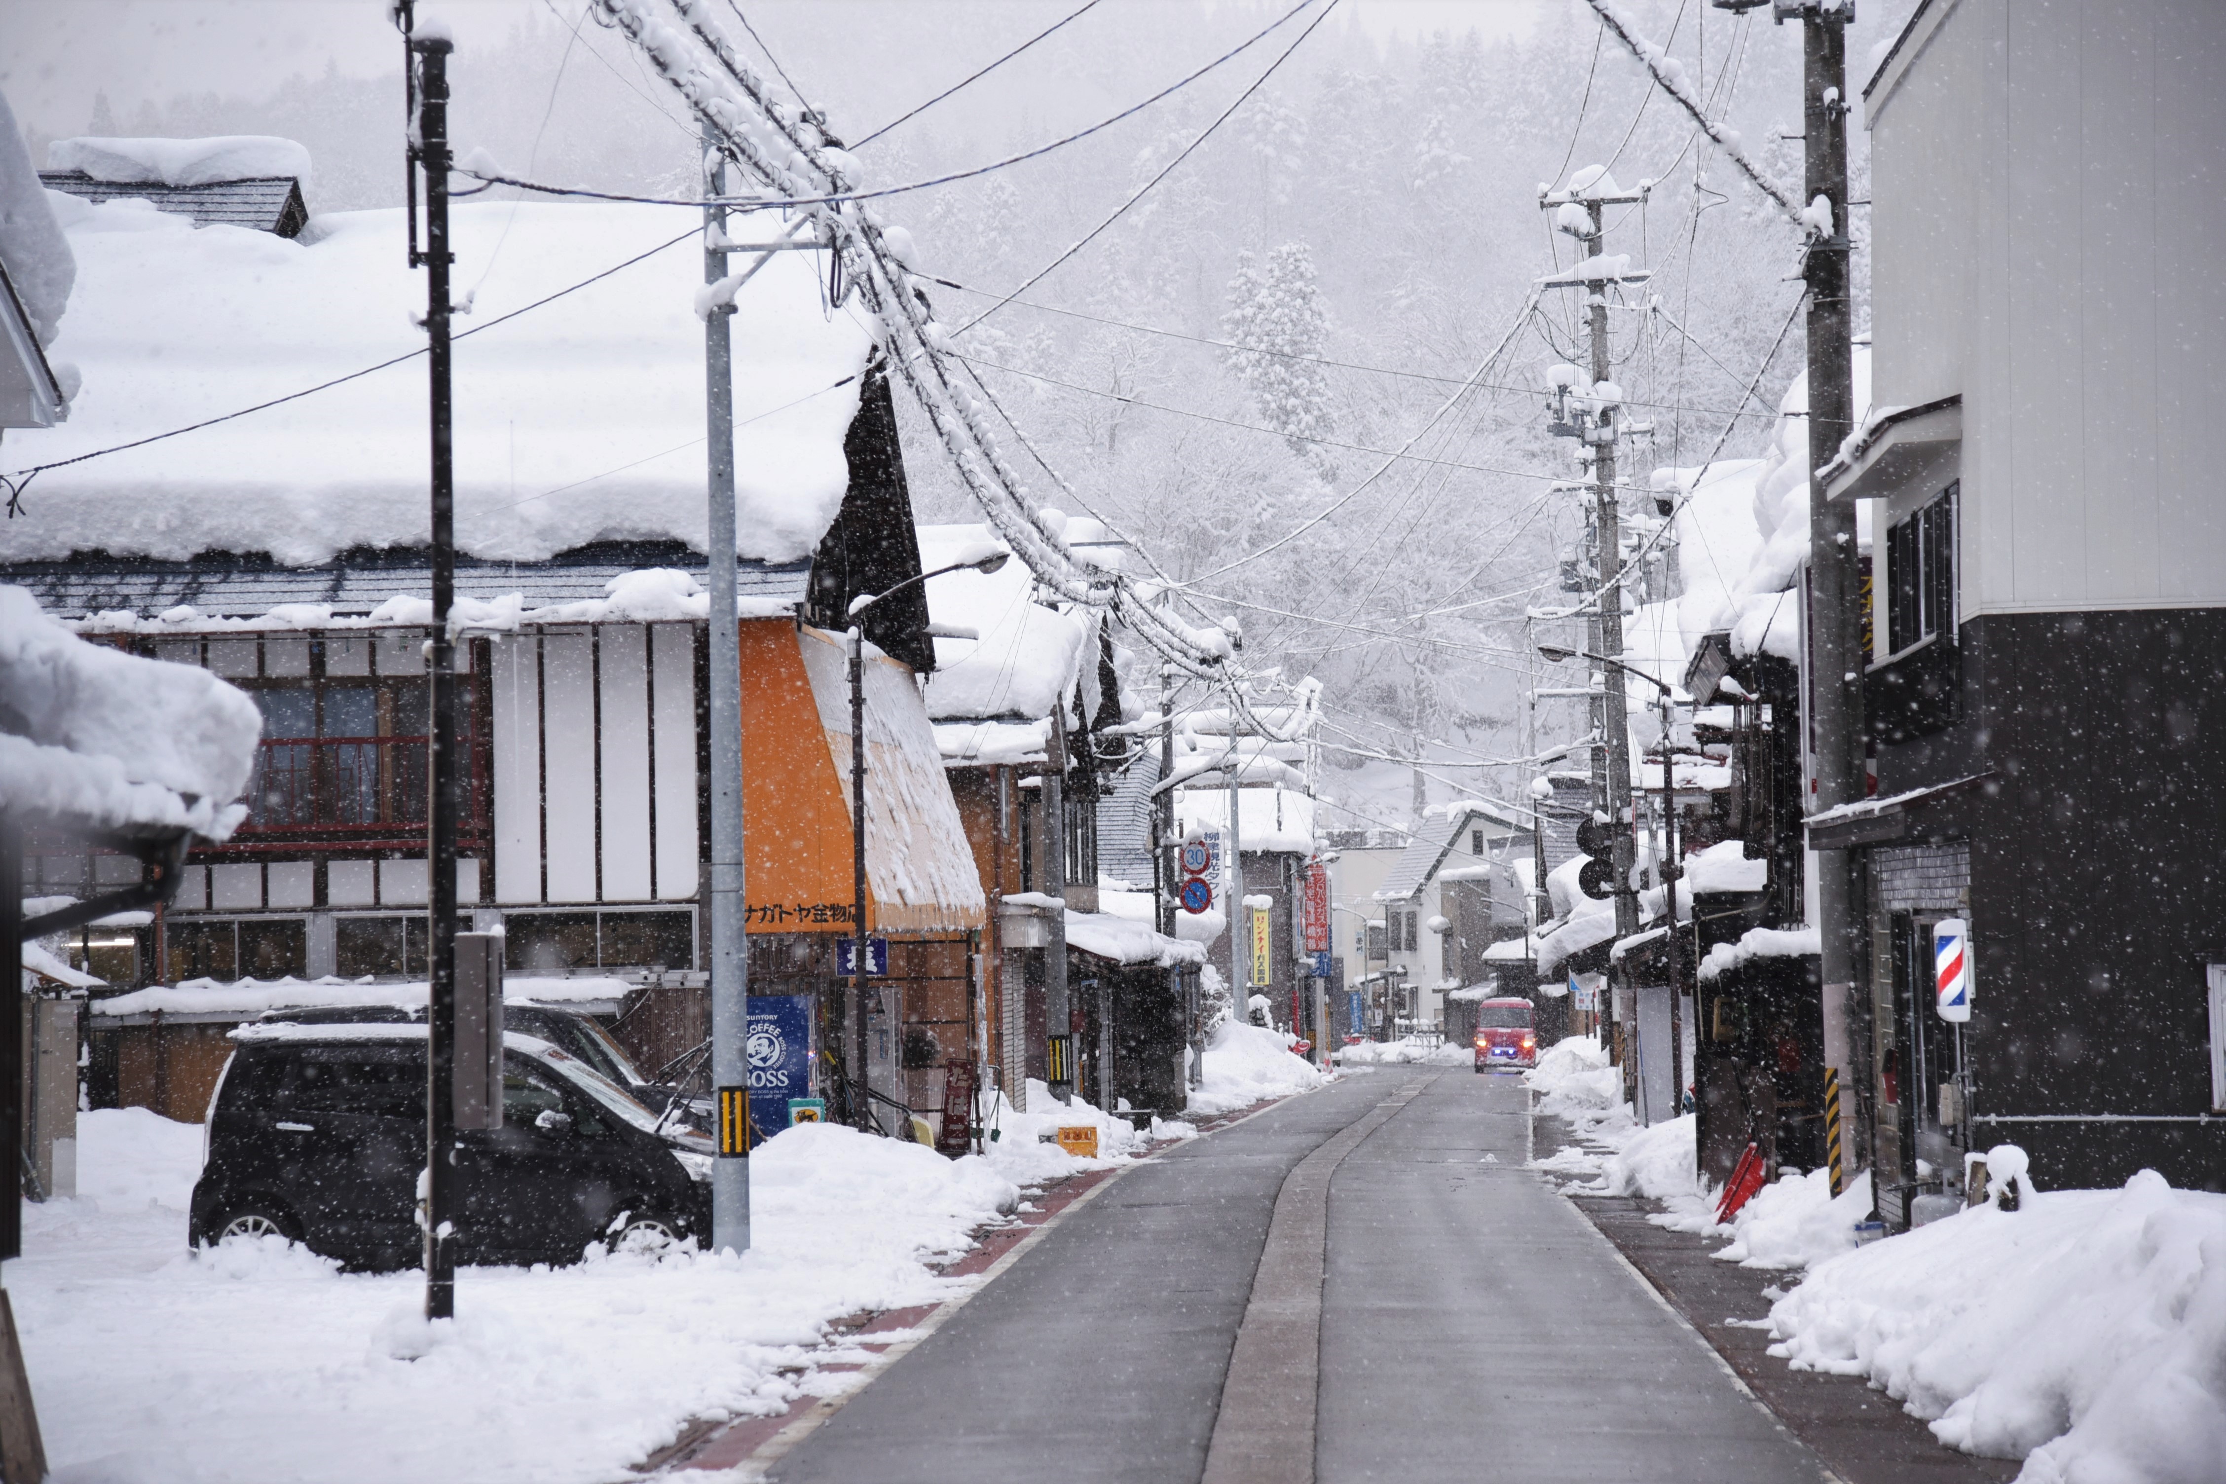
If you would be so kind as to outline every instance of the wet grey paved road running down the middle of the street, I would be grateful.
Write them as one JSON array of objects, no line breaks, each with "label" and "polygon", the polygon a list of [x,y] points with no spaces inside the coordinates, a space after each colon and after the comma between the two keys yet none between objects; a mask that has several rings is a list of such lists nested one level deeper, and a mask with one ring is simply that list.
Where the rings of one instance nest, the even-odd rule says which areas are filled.
[{"label": "wet grey paved road running down the middle of the street", "polygon": [[[1302,1484],[1302,1446],[1293,1471],[1258,1442],[1311,1435],[1322,1484],[1816,1480],[1520,1168],[1525,1126],[1511,1077],[1380,1068],[1173,1148],[1075,1208],[772,1477]],[[1293,1286],[1311,1241],[1318,1293]],[[1309,1397],[1287,1384],[1311,1373],[1289,1364],[1293,1302],[1320,1315],[1302,1326]]]}]

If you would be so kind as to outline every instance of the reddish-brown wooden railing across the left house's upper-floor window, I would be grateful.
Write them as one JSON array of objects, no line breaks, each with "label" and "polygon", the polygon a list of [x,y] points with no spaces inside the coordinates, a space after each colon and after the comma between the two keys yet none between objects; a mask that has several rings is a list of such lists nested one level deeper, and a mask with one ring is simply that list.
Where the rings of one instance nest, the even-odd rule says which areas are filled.
[{"label": "reddish-brown wooden railing across the left house's upper-floor window", "polygon": [[[243,834],[374,834],[423,830],[427,736],[298,736],[260,743]],[[465,741],[465,832],[485,823],[474,748]]]}]

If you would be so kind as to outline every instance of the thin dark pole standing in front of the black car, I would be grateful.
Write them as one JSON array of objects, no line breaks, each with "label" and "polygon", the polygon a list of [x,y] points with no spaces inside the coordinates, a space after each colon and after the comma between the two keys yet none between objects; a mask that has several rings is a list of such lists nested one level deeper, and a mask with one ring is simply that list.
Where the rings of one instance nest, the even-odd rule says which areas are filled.
[{"label": "thin dark pole standing in front of the black car", "polygon": [[[425,249],[410,243],[410,267],[425,269],[425,365],[432,392],[432,808],[425,857],[432,872],[430,1015],[425,1055],[425,1317],[456,1315],[456,641],[447,614],[456,596],[456,469],[450,396],[447,249],[447,53],[445,31],[412,31],[418,80],[416,158],[425,174]],[[496,1035],[501,1035],[496,1030]]]}]

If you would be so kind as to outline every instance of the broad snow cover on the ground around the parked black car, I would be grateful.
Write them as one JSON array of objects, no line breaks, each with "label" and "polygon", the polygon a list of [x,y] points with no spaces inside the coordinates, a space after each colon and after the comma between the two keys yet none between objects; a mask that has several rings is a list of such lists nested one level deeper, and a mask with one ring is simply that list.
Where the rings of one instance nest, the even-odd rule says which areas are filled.
[{"label": "broad snow cover on the ground around the parked black car", "polygon": [[71,1484],[626,1477],[686,1417],[839,1388],[808,1368],[866,1355],[817,1348],[830,1322],[964,1290],[924,1264],[1020,1199],[986,1159],[797,1126],[750,1157],[746,1257],[465,1268],[459,1319],[425,1326],[418,1273],[343,1275],[278,1241],[189,1255],[198,1128],[131,1108],[78,1135],[80,1195],[24,1208],[7,1270]]}]

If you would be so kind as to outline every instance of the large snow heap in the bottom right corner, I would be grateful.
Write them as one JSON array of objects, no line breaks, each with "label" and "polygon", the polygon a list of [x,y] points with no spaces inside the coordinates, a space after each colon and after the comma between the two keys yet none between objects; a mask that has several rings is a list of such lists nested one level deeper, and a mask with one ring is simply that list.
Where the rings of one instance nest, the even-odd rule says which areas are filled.
[{"label": "large snow heap in the bottom right corner", "polygon": [[1770,1322],[1774,1355],[1870,1377],[2026,1484],[2215,1484],[2226,1460],[2226,1195],[2155,1170],[1845,1253]]}]

